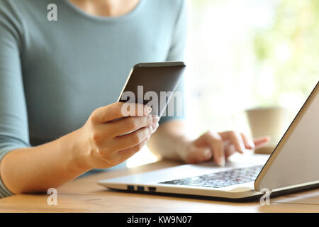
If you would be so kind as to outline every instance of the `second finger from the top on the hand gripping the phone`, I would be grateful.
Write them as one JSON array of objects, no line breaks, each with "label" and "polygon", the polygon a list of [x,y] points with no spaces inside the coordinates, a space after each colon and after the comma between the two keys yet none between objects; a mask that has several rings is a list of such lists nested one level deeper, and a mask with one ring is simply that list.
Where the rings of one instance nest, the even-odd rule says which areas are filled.
[{"label": "second finger from the top on the hand gripping the phone", "polygon": [[147,116],[134,116],[122,118],[118,121],[111,121],[104,124],[102,127],[106,134],[116,137],[118,135],[136,131],[140,128],[152,126],[153,124],[156,126],[158,121],[158,116],[149,114]]}]

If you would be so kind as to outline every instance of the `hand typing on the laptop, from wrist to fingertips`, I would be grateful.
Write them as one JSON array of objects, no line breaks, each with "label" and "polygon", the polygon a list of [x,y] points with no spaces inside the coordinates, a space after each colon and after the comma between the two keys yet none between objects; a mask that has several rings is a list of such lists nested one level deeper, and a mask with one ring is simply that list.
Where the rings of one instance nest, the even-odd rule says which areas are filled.
[{"label": "hand typing on the laptop, from wrist to fingertips", "polygon": [[204,162],[213,159],[218,165],[225,165],[225,160],[233,153],[254,150],[269,142],[268,137],[250,139],[244,133],[225,131],[213,133],[208,131],[196,140],[184,143],[180,150],[181,160],[187,163]]}]

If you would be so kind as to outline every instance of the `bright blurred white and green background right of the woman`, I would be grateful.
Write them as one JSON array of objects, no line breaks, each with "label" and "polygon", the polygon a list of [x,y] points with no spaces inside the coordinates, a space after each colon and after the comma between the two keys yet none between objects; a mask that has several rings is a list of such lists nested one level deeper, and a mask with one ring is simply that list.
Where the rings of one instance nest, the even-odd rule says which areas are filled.
[{"label": "bright blurred white and green background right of the woman", "polygon": [[254,107],[295,116],[319,79],[319,1],[188,2],[191,131],[249,133]]}]

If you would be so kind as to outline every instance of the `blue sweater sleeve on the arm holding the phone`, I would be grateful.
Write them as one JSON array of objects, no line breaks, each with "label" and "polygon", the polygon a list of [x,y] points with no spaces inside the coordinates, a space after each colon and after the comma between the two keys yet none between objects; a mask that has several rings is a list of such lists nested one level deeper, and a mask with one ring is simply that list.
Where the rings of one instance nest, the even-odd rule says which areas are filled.
[{"label": "blue sweater sleeve on the arm holding the phone", "polygon": [[12,195],[1,180],[2,158],[11,150],[29,146],[16,14],[9,1],[0,2],[0,198]]}]

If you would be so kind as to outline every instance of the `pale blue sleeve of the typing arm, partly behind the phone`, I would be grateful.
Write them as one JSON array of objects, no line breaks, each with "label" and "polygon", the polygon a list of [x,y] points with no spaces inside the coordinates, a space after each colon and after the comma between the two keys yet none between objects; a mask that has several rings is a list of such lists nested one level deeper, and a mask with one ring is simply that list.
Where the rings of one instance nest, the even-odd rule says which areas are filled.
[{"label": "pale blue sleeve of the typing arm, partly behind the phone", "polygon": [[[167,61],[184,61],[184,54],[185,54],[185,47],[186,47],[186,1],[181,0],[180,6],[177,13],[177,19],[175,21],[174,31],[172,33],[172,43],[171,48],[169,49],[169,53],[167,55]],[[175,94],[179,92],[181,94],[181,99],[174,100],[174,116],[162,116],[159,123],[164,123],[166,121],[172,120],[179,120],[185,118],[185,108],[186,108],[186,101],[185,101],[185,78],[184,76],[181,78],[177,89],[175,90]],[[178,97],[179,95],[177,95]],[[173,99],[173,97],[172,97]],[[171,102],[173,101],[171,99]],[[180,100],[181,103],[181,114],[177,115],[179,111],[179,104],[177,104],[177,100]]]}]

